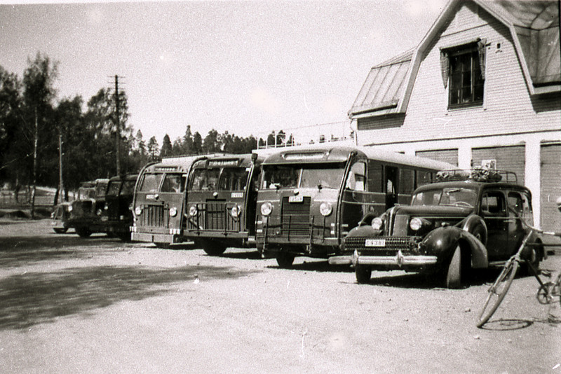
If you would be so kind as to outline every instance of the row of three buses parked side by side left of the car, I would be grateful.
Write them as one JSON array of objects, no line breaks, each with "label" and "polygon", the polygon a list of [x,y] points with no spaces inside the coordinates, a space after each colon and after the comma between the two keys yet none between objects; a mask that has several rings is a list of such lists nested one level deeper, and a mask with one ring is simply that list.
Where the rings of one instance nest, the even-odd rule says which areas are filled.
[{"label": "row of three buses parked side by side left of the car", "polygon": [[207,254],[257,247],[281,267],[337,256],[363,216],[408,204],[446,162],[365,147],[285,148],[264,157],[164,158],[138,174],[132,240],[194,242]]}]

